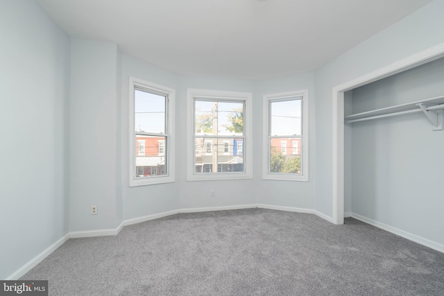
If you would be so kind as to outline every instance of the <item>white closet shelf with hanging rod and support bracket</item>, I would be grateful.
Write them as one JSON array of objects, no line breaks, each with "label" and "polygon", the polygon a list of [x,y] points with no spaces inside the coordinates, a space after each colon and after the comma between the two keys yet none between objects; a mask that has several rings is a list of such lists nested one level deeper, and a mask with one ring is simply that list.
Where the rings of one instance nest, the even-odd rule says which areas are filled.
[{"label": "white closet shelf with hanging rod and support bracket", "polygon": [[442,130],[443,109],[444,96],[437,96],[436,98],[427,98],[425,100],[412,103],[395,105],[391,107],[348,115],[344,117],[344,123],[354,123],[358,121],[367,121],[384,117],[424,112],[427,115],[427,118],[434,125],[434,130]]}]

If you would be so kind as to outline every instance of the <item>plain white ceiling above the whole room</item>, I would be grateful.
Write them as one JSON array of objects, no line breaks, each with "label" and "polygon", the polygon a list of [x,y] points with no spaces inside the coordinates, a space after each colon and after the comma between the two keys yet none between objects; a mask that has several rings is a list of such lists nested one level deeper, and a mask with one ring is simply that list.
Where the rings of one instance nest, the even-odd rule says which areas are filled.
[{"label": "plain white ceiling above the whole room", "polygon": [[312,71],[431,0],[37,0],[71,37],[185,75]]}]

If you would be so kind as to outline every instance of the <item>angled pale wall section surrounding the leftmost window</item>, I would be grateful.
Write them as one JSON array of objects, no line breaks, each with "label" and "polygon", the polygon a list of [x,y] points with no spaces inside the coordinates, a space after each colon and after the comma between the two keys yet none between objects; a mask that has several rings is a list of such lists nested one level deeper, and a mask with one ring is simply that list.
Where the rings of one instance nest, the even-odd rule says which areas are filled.
[{"label": "angled pale wall section surrounding the leftmost window", "polygon": [[[151,186],[128,187],[129,175],[129,77],[134,76],[149,82],[176,89],[176,114],[180,109],[180,97],[178,96],[179,76],[171,71],[155,67],[142,60],[131,58],[128,55],[122,56],[121,73],[121,182],[123,191],[123,219],[138,218],[151,214],[162,213],[178,209],[179,186],[178,182],[157,184]],[[177,120],[176,134],[182,123]],[[176,142],[176,155],[180,153],[180,143]],[[178,156],[176,156],[176,159]],[[177,160],[176,160],[177,162]],[[177,167],[177,166],[176,166]],[[177,170],[177,168],[176,168]],[[176,176],[178,172],[176,171]],[[176,177],[177,180],[177,177]]]}]

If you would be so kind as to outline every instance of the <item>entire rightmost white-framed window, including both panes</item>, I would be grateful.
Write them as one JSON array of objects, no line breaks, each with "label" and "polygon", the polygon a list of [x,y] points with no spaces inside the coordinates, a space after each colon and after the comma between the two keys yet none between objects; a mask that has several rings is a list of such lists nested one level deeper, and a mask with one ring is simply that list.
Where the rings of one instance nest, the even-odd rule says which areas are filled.
[{"label": "entire rightmost white-framed window, including both panes", "polygon": [[264,119],[264,179],[308,181],[307,90],[264,96]]}]

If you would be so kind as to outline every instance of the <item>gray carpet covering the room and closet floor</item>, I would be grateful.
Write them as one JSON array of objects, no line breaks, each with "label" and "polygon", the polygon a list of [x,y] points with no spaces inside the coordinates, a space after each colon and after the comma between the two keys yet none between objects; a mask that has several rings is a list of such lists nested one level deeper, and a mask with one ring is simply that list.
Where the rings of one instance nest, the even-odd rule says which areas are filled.
[{"label": "gray carpet covering the room and closet floor", "polygon": [[444,295],[444,254],[347,218],[242,209],[70,239],[22,279],[49,295]]}]

